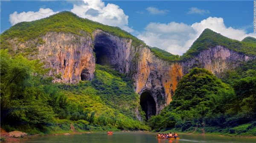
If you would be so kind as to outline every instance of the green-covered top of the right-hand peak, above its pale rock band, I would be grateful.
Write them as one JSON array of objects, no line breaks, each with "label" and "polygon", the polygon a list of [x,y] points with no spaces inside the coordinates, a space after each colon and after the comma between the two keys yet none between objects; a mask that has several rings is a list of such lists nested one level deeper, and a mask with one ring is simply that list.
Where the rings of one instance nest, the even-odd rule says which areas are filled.
[{"label": "green-covered top of the right-hand peak, above its pale rock band", "polygon": [[229,39],[207,28],[202,32],[198,39],[196,39],[189,50],[187,50],[186,53],[181,56],[181,59],[186,60],[192,58],[197,56],[198,53],[202,52],[203,50],[207,50],[217,45],[224,46],[237,52],[256,55],[255,42],[240,42],[238,40]]}]

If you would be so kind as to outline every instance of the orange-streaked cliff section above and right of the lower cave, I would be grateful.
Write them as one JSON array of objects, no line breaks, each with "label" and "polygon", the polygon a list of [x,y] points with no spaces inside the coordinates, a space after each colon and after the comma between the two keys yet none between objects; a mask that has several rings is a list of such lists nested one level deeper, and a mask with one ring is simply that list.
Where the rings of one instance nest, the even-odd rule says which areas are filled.
[{"label": "orange-streaked cliff section above and right of the lower cave", "polygon": [[156,56],[148,48],[140,48],[140,58],[134,74],[136,92],[150,93],[156,102],[156,114],[172,101],[178,80],[183,76],[180,63],[169,63]]}]

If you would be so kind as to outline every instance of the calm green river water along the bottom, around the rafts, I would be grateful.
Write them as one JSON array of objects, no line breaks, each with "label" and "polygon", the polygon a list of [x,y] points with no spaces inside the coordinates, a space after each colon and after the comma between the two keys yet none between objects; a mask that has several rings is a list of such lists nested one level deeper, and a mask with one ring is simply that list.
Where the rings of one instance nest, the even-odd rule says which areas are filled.
[{"label": "calm green river water along the bottom, around the rafts", "polygon": [[254,138],[220,137],[214,135],[179,135],[180,140],[157,139],[156,134],[116,132],[113,135],[91,133],[82,135],[58,135],[36,137],[22,143],[256,143]]}]

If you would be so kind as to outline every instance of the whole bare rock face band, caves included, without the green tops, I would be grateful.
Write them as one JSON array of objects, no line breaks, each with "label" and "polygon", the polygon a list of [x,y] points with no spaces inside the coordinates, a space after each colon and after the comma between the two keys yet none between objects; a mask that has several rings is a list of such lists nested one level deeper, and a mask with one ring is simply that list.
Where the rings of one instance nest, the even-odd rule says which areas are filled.
[{"label": "whole bare rock face band, caves included, without the green tops", "polygon": [[112,65],[134,79],[135,91],[143,96],[140,104],[147,118],[159,114],[172,101],[178,81],[193,67],[204,67],[218,76],[240,62],[256,59],[256,56],[215,46],[189,61],[167,62],[157,58],[149,48],[133,45],[131,39],[101,30],[94,31],[92,36],[49,32],[41,38],[44,43],[37,46],[36,58],[52,68],[50,75],[55,77],[55,82],[75,84],[91,80],[96,63]]}]

